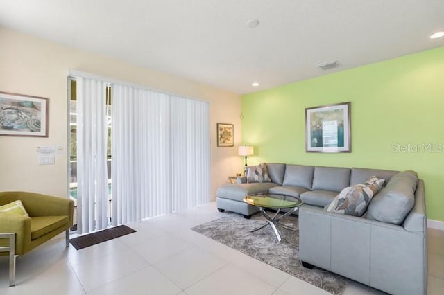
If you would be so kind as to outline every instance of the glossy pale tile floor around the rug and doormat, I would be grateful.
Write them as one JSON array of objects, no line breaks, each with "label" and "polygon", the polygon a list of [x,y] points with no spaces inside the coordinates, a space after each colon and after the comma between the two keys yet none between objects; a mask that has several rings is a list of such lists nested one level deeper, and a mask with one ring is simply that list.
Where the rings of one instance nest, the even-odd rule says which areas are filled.
[{"label": "glossy pale tile floor around the rug and doormat", "polygon": [[[328,294],[254,258],[190,231],[223,217],[213,203],[130,224],[137,233],[76,251],[62,235],[17,258],[8,287],[0,258],[0,294]],[[444,294],[444,231],[429,230],[429,292]],[[350,294],[383,294],[359,283]]]}]

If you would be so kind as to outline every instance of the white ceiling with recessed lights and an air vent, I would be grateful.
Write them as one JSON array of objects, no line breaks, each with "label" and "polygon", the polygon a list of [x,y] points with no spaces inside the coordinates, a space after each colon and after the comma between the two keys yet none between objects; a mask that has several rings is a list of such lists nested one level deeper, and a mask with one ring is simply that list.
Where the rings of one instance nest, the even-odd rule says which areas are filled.
[{"label": "white ceiling with recessed lights and an air vent", "polygon": [[0,26],[249,93],[444,46],[444,0],[0,0]]}]

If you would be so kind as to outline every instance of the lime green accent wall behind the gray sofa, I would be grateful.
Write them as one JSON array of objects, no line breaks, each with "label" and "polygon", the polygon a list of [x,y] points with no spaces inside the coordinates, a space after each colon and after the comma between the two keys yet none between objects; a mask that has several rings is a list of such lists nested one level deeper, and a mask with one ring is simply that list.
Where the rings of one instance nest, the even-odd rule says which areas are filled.
[{"label": "lime green accent wall behind the gray sofa", "polygon": [[[444,47],[249,93],[249,163],[416,170],[427,218],[444,221]],[[305,108],[351,102],[352,152],[305,152]]]}]

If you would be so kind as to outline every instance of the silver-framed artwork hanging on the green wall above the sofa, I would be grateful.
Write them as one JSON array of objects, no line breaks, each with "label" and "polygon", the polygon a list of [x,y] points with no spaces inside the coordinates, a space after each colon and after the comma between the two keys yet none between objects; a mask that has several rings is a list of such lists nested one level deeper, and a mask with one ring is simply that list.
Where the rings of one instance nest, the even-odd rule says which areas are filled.
[{"label": "silver-framed artwork hanging on the green wall above the sofa", "polygon": [[305,109],[306,152],[351,152],[350,102]]}]

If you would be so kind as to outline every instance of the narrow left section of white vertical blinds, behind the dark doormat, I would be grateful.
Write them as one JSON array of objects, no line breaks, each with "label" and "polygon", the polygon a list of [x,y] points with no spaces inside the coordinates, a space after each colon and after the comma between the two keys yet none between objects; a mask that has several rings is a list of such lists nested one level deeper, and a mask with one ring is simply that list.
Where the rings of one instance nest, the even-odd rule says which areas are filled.
[{"label": "narrow left section of white vertical blinds, behind the dark doormat", "polygon": [[77,79],[77,231],[108,226],[106,84]]}]

